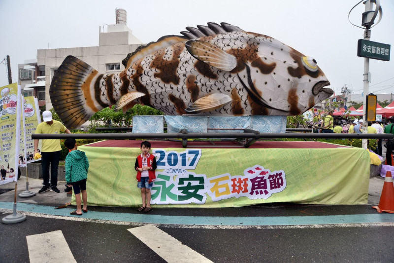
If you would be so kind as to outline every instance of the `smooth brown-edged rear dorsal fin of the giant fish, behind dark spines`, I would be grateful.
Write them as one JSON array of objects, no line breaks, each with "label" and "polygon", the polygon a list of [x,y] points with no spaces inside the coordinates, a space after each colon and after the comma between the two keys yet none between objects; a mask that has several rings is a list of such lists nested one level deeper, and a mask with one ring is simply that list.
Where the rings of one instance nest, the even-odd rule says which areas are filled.
[{"label": "smooth brown-edged rear dorsal fin of the giant fish, behind dark spines", "polygon": [[132,62],[137,61],[140,58],[143,58],[156,50],[188,39],[189,38],[173,35],[161,37],[156,42],[150,42],[147,45],[137,47],[134,52],[129,53],[127,57],[122,60],[122,64],[123,66],[125,66],[126,69],[128,69],[131,66]]}]

